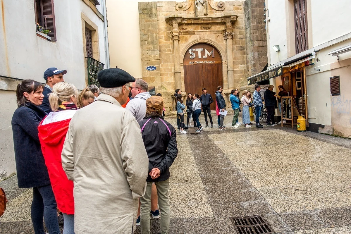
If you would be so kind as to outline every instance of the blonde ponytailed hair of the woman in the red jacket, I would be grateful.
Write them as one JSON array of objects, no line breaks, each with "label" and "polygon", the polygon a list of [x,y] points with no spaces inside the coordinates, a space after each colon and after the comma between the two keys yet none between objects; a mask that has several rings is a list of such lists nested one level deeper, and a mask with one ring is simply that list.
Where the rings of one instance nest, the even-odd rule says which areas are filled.
[{"label": "blonde ponytailed hair of the woman in the red jacket", "polygon": [[67,82],[60,82],[52,87],[52,93],[49,94],[49,103],[51,110],[57,112],[59,110],[59,102],[68,101],[74,96],[78,97],[78,89]]}]

